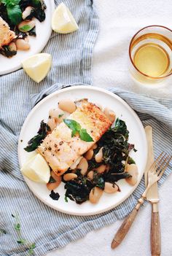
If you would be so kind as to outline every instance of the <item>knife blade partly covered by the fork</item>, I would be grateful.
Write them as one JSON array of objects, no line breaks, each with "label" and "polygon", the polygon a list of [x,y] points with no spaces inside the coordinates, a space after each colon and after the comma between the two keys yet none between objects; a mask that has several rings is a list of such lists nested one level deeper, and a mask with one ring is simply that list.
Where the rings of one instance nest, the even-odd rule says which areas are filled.
[{"label": "knife blade partly covered by the fork", "polygon": [[[149,170],[149,167],[154,162],[154,149],[153,149],[153,141],[152,141],[152,127],[147,125],[145,127],[146,132],[146,139],[148,144],[148,160],[146,164],[146,170]],[[145,187],[147,186],[148,180],[147,180],[147,171],[144,172],[144,182]],[[158,187],[157,182],[155,182],[152,187],[149,188],[149,191],[146,195],[146,199],[150,201],[151,203],[157,203],[159,202],[159,195],[158,195]]]}]

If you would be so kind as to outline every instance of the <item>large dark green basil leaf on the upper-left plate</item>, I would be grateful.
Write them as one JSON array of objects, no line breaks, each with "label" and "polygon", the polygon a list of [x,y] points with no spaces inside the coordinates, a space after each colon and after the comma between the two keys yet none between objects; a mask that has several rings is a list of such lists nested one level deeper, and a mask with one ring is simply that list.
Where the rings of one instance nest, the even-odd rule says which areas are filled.
[{"label": "large dark green basil leaf on the upper-left plate", "polygon": [[7,5],[7,15],[13,25],[19,24],[22,20],[22,12],[18,4],[15,6]]}]

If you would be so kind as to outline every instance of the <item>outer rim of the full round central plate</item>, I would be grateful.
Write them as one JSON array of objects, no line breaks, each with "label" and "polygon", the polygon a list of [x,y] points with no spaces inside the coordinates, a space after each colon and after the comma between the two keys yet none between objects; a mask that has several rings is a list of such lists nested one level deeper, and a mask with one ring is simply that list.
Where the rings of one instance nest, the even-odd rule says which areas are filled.
[{"label": "outer rim of the full round central plate", "polygon": [[52,209],[55,209],[56,211],[58,212],[63,212],[65,214],[71,214],[71,215],[75,215],[75,216],[92,216],[92,215],[96,215],[96,214],[102,214],[104,212],[108,212],[109,210],[111,209],[114,209],[115,207],[117,206],[120,206],[121,203],[123,203],[126,199],[128,199],[130,197],[130,195],[133,194],[134,190],[136,190],[136,188],[138,187],[138,185],[140,184],[141,182],[141,179],[144,175],[144,170],[146,168],[146,161],[147,161],[147,152],[148,152],[148,146],[147,146],[147,140],[146,140],[146,133],[144,131],[144,125],[141,123],[141,120],[140,118],[138,117],[138,115],[136,114],[136,112],[127,104],[127,102],[125,102],[120,96],[118,96],[117,94],[115,93],[112,93],[111,91],[109,90],[106,90],[104,88],[98,88],[98,87],[95,87],[93,85],[72,85],[71,87],[67,87],[67,88],[59,88],[57,90],[55,90],[55,92],[53,93],[50,93],[50,95],[46,96],[45,98],[43,98],[41,101],[39,101],[36,106],[33,107],[33,109],[31,109],[31,112],[29,112],[28,116],[26,117],[26,120],[24,121],[23,125],[22,125],[22,128],[20,130],[20,135],[18,137],[18,144],[17,144],[17,156],[18,156],[18,162],[19,162],[19,167],[21,166],[21,160],[20,160],[20,139],[22,138],[22,134],[23,134],[23,131],[25,131],[25,126],[26,126],[26,123],[28,121],[28,119],[31,117],[32,113],[34,113],[36,111],[36,109],[39,108],[39,106],[41,106],[42,104],[44,104],[45,101],[47,101],[47,99],[49,98],[52,98],[53,96],[55,95],[58,95],[59,93],[63,93],[64,91],[70,91],[70,90],[76,90],[76,89],[88,89],[88,90],[97,90],[97,91],[101,91],[103,93],[106,93],[106,94],[109,94],[109,96],[112,96],[114,98],[117,98],[120,102],[122,102],[122,104],[124,104],[131,112],[132,114],[134,115],[134,117],[136,118],[137,122],[139,123],[140,125],[140,128],[142,130],[142,134],[144,135],[144,141],[146,142],[146,160],[145,160],[145,163],[144,163],[144,168],[143,168],[143,171],[141,173],[141,178],[138,180],[138,182],[136,183],[136,185],[134,185],[132,187],[132,189],[130,190],[130,193],[128,193],[127,195],[125,195],[123,198],[120,199],[120,201],[118,201],[118,203],[114,203],[112,206],[109,206],[109,207],[106,207],[106,209],[102,209],[102,210],[97,210],[96,212],[87,212],[87,213],[78,213],[78,212],[68,212],[66,210],[63,210],[63,209],[57,209],[57,207],[55,206],[52,206],[51,203],[47,202],[47,201],[43,201],[43,199],[39,196],[39,193],[35,193],[31,190],[31,187],[30,185],[28,185],[28,182],[27,182],[27,177],[25,177],[23,175],[23,179],[25,180],[26,182],[26,185],[28,186],[28,188],[31,190],[31,193],[33,193],[40,201],[42,201],[42,203],[46,204],[47,206],[50,206],[50,208]]}]

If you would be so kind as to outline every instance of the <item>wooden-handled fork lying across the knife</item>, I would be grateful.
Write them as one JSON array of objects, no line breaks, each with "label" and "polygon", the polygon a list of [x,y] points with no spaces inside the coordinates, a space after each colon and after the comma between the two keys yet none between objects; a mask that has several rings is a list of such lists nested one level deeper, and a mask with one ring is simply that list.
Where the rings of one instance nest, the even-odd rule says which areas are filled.
[{"label": "wooden-handled fork lying across the knife", "polygon": [[136,204],[133,211],[128,215],[124,222],[122,222],[122,225],[117,230],[117,233],[114,236],[114,239],[112,240],[112,249],[116,248],[122,242],[123,238],[125,238],[126,234],[128,233],[128,230],[130,229],[130,226],[133,224],[133,221],[136,218],[138,209],[140,209],[141,205],[144,203],[146,193],[148,192],[149,188],[155,182],[160,180],[160,178],[163,176],[163,173],[165,172],[168,163],[170,163],[171,158],[172,156],[162,152],[155,160],[155,162],[152,163],[152,166],[149,168],[148,171],[148,185],[146,187],[146,190],[144,190],[144,193],[141,195],[141,198],[138,199],[138,203]]}]

